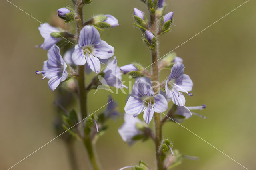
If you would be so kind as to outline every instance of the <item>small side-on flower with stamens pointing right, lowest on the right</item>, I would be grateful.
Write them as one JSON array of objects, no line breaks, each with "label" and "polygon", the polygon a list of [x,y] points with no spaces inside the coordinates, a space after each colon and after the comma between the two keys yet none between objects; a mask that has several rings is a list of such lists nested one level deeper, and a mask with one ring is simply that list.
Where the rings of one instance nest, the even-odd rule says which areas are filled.
[{"label": "small side-on flower with stamens pointing right, lowest on the right", "polygon": [[[185,107],[185,106],[177,106],[177,109],[176,111],[174,112],[174,115],[182,115],[184,116],[185,118],[184,119],[188,119],[190,117],[192,117],[192,115],[197,115],[199,117],[202,117],[204,119],[206,119],[205,116],[203,115],[200,115],[198,113],[194,113],[194,112],[191,112],[191,110],[202,110],[206,108],[205,105],[201,105],[201,106],[191,106],[191,107]],[[178,123],[181,123],[184,119],[177,119],[177,118],[174,118],[174,120]]]}]

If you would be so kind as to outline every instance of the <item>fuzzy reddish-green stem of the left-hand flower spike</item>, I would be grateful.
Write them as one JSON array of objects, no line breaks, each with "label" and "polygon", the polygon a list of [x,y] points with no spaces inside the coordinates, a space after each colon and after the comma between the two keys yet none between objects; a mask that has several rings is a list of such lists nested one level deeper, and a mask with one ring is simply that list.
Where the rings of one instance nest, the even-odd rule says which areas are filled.
[{"label": "fuzzy reddish-green stem of the left-hand flower spike", "polygon": [[[82,0],[76,0],[76,26],[77,26],[77,43],[80,35],[80,31],[83,28],[83,1]],[[78,66],[78,95],[79,95],[79,104],[80,104],[80,111],[82,119],[84,119],[87,114],[87,93],[85,89],[85,78],[84,78],[84,65]],[[83,123],[81,123],[83,125]],[[92,144],[92,141],[90,140],[90,136],[84,134],[84,130],[82,128],[82,137],[84,146],[87,150],[90,162],[92,164],[92,167],[94,170],[99,170],[96,156],[94,152],[94,146]]]}]

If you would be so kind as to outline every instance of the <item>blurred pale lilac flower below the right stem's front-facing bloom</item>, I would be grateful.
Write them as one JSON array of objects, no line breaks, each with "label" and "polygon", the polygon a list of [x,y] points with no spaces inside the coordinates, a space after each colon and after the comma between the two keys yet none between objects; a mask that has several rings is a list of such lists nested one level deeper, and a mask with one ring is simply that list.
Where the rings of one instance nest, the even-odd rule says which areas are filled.
[{"label": "blurred pale lilac flower below the right stem's front-facing bloom", "polygon": [[136,123],[141,123],[140,119],[124,113],[124,124],[118,128],[118,133],[120,134],[122,140],[127,142],[130,146],[135,142],[132,140],[134,136],[143,134],[143,132],[136,128]]}]

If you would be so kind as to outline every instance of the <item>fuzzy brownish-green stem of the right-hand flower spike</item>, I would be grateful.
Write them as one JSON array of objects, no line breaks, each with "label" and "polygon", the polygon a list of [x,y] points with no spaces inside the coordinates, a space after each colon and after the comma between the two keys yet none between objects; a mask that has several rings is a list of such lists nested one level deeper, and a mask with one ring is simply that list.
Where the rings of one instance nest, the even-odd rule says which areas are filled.
[{"label": "fuzzy brownish-green stem of the right-hand flower spike", "polygon": [[[151,20],[151,31],[154,33],[157,33],[157,21],[156,21],[156,15],[155,13],[150,14],[150,20]],[[156,43],[156,46],[154,50],[151,51],[152,55],[152,81],[159,81],[158,77],[158,40]],[[154,86],[154,92],[158,93],[158,87],[156,86],[157,84],[153,82]],[[161,113],[156,113],[154,112],[154,122],[155,122],[155,146],[156,146],[156,164],[157,164],[157,169],[158,170],[163,170],[163,162],[161,160],[161,151],[160,151],[160,146],[162,142],[162,125],[161,125]]]}]

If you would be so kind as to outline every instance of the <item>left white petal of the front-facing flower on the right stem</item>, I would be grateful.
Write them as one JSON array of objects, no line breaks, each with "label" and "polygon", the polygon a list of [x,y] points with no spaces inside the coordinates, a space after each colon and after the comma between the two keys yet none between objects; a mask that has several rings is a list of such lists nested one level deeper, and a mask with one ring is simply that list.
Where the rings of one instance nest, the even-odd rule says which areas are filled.
[{"label": "left white petal of the front-facing flower on the right stem", "polygon": [[126,105],[124,107],[124,111],[130,115],[137,116],[138,114],[144,111],[144,101],[140,99],[136,99],[133,96],[130,96]]}]

